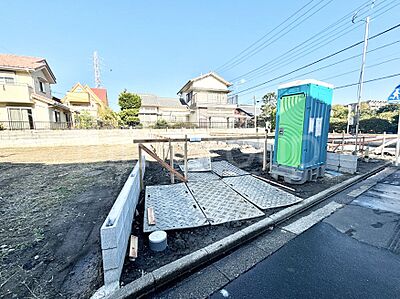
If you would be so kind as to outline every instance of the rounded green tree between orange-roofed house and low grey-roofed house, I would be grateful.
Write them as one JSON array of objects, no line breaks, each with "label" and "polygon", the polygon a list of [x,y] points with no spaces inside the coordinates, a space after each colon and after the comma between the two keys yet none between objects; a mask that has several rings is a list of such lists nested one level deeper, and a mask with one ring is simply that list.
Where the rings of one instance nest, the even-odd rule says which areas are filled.
[{"label": "rounded green tree between orange-roofed house and low grey-roofed house", "polygon": [[123,125],[137,126],[140,123],[138,116],[142,99],[137,94],[127,92],[125,89],[119,94],[118,105],[121,107],[119,116]]}]

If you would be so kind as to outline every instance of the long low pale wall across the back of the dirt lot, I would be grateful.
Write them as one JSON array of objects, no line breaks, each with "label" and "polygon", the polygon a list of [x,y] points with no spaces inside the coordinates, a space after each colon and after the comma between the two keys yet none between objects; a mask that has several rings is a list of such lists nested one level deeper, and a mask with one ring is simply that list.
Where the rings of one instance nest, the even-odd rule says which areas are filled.
[{"label": "long low pale wall across the back of the dirt lot", "polygon": [[245,134],[254,129],[132,129],[132,130],[23,130],[0,131],[0,148],[132,144],[134,138],[159,135]]}]

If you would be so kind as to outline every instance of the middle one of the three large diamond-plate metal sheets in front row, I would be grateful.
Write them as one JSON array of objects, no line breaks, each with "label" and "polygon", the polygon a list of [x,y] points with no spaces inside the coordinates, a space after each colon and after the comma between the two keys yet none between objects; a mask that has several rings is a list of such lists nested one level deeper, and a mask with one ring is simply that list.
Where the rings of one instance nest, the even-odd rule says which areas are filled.
[{"label": "middle one of the three large diamond-plate metal sheets in front row", "polygon": [[187,185],[212,225],[264,215],[221,180],[188,182]]}]

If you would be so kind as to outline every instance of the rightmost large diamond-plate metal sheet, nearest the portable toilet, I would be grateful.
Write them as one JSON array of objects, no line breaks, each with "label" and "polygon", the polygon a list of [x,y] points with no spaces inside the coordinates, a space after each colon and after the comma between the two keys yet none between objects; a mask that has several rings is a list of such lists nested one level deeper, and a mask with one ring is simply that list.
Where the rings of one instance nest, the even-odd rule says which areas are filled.
[{"label": "rightmost large diamond-plate metal sheet, nearest the portable toilet", "polygon": [[302,198],[271,186],[251,175],[227,177],[223,178],[222,181],[263,210],[288,206],[302,201]]}]

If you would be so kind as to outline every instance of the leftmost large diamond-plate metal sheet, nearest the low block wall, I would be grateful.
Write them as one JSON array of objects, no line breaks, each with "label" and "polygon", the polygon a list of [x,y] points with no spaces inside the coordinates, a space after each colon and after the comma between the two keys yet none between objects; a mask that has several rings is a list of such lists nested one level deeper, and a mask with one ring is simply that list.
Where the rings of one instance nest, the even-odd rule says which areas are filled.
[{"label": "leftmost large diamond-plate metal sheet, nearest the low block wall", "polygon": [[[209,225],[184,183],[147,186],[143,231],[172,230]],[[155,225],[149,225],[147,208],[152,207]]]}]

